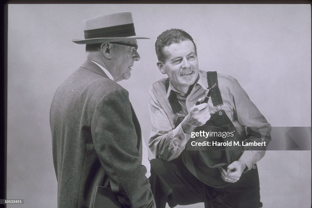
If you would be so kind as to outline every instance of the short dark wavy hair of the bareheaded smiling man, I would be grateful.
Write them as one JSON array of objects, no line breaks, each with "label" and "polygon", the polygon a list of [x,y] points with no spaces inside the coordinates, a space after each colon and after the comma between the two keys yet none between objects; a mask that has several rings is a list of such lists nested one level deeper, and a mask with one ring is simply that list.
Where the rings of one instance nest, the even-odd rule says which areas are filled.
[{"label": "short dark wavy hair of the bareheaded smiling man", "polygon": [[170,46],[172,43],[181,43],[182,41],[190,40],[194,44],[195,55],[197,56],[196,45],[193,41],[192,36],[190,36],[187,32],[181,29],[170,29],[164,31],[157,37],[155,42],[155,51],[158,58],[158,61],[165,61],[165,55],[163,54],[163,47]]}]

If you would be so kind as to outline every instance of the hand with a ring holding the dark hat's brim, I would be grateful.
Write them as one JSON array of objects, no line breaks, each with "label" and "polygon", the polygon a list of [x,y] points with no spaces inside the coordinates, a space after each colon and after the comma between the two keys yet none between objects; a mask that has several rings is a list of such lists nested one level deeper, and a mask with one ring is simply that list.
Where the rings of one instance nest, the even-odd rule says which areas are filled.
[{"label": "hand with a ring holding the dark hat's brim", "polygon": [[230,165],[227,166],[227,170],[220,167],[220,172],[222,179],[227,182],[235,183],[241,177],[244,169],[246,168],[246,164],[242,161],[234,161]]}]

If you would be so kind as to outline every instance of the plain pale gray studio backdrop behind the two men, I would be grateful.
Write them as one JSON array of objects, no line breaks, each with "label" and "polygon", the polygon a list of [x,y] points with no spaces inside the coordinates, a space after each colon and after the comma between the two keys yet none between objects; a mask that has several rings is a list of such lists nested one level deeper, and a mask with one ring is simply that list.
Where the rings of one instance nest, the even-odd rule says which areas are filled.
[{"label": "plain pale gray studio backdrop behind the two men", "polygon": [[[151,38],[138,40],[141,60],[119,82],[146,141],[148,89],[164,77],[154,43],[170,28],[193,36],[200,69],[235,77],[272,126],[311,126],[310,5],[9,5],[7,198],[25,199],[18,207],[56,207],[51,100],[85,61],[85,45],[71,42],[83,38],[83,20],[121,11]],[[310,207],[310,151],[267,151],[258,167],[264,207]]]}]

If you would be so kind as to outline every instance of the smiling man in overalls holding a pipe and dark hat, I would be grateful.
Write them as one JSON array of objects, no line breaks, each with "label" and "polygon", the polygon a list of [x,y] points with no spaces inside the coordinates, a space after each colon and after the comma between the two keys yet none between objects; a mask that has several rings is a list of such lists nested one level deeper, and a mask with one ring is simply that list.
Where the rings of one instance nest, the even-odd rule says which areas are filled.
[{"label": "smiling man in overalls holding a pipe and dark hat", "polygon": [[[204,124],[235,127],[236,135],[245,141],[270,141],[271,125],[236,79],[198,69],[196,45],[185,31],[164,31],[155,50],[158,69],[168,75],[149,89],[149,148],[156,157],[149,181],[156,206],[204,202],[205,207],[261,207],[256,162],[265,154],[262,147],[216,154],[203,151],[202,157],[192,160],[186,144],[194,129]],[[208,103],[195,105],[215,83]],[[197,162],[209,163],[212,157],[220,164],[227,159],[222,166],[200,170]]]}]

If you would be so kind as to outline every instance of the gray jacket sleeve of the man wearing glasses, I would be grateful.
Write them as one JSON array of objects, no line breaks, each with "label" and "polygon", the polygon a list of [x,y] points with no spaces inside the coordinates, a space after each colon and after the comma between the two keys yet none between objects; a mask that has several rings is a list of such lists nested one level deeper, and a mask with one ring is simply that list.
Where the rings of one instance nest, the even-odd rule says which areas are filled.
[{"label": "gray jacket sleeve of the man wearing glasses", "polygon": [[99,100],[91,133],[95,151],[120,203],[126,207],[156,207],[137,147],[138,136],[125,89],[114,89]]}]

